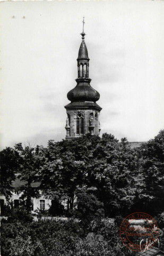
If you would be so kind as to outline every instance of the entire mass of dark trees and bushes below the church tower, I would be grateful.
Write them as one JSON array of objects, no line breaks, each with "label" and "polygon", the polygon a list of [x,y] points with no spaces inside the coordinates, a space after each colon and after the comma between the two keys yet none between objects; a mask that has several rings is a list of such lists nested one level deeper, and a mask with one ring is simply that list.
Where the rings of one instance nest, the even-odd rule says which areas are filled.
[{"label": "entire mass of dark trees and bushes below the church tower", "polygon": [[[3,256],[131,255],[120,242],[116,215],[136,211],[156,216],[164,245],[164,130],[133,149],[126,138],[107,133],[50,140],[46,148],[19,143],[1,151],[1,165],[1,193],[9,201],[19,172],[24,209],[10,210],[3,223]],[[53,200],[49,214],[69,220],[33,222],[31,198],[39,190]]]}]

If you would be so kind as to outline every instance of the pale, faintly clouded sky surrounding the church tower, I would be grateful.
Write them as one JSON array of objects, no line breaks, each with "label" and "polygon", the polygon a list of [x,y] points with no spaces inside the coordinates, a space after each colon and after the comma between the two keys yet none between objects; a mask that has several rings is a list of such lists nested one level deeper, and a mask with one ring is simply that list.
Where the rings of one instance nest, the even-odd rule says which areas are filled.
[{"label": "pale, faintly clouded sky surrounding the church tower", "polygon": [[2,148],[65,138],[83,15],[101,134],[146,141],[164,129],[164,1],[0,5]]}]

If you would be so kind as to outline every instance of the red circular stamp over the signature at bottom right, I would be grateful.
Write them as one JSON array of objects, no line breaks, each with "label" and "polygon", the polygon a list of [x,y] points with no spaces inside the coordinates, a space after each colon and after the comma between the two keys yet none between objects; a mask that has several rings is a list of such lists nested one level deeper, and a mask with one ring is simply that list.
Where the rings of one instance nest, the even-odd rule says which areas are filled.
[{"label": "red circular stamp over the signature at bottom right", "polygon": [[124,245],[135,252],[145,252],[154,244],[159,245],[159,228],[156,220],[145,212],[128,215],[119,229]]}]

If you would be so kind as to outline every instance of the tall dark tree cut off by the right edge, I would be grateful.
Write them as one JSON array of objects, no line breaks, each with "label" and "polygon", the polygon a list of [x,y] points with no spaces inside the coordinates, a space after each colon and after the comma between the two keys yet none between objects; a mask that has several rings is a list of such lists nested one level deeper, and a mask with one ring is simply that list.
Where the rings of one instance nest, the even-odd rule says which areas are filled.
[{"label": "tall dark tree cut off by the right edge", "polygon": [[164,130],[138,150],[144,177],[143,209],[150,214],[161,213],[164,210]]}]

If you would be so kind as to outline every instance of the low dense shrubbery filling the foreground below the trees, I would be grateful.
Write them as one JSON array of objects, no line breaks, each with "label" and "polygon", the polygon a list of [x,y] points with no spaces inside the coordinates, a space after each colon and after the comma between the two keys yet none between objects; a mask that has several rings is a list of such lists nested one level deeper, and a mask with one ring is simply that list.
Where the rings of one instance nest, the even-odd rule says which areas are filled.
[{"label": "low dense shrubbery filling the foreground below the trees", "polygon": [[83,231],[75,220],[25,221],[17,210],[3,220],[1,252],[3,256],[132,255],[120,242],[114,222],[102,222],[97,233],[85,238]]}]

